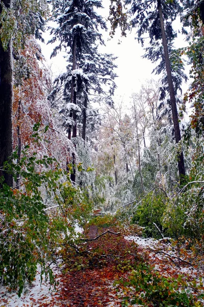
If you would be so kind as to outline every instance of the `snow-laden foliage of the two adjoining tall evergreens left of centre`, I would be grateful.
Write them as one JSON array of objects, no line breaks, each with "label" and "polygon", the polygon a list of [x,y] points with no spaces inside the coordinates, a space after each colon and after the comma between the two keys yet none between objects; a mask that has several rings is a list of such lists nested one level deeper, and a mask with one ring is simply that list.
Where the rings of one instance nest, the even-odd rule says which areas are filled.
[{"label": "snow-laden foliage of the two adjoining tall evergreens left of centre", "polygon": [[[67,51],[67,72],[60,75],[55,81],[55,88],[49,95],[50,101],[54,101],[56,94],[61,91],[59,111],[63,118],[63,126],[70,138],[71,126],[78,122],[81,125],[81,135],[86,138],[86,125],[88,120],[88,108],[90,108],[91,94],[105,94],[108,85],[109,95],[115,89],[113,72],[115,65],[111,54],[100,54],[97,44],[104,43],[98,28],[106,29],[103,18],[95,11],[101,8],[101,2],[89,1],[60,1],[54,2],[53,19],[58,24],[51,33],[54,37],[51,43],[59,39],[52,56],[65,48]],[[63,88],[63,90],[61,90]],[[81,116],[74,109],[68,110],[67,103],[77,104],[81,108]],[[56,105],[56,104],[55,104]],[[71,118],[71,120],[69,119]],[[75,131],[73,136],[75,137]]]}]

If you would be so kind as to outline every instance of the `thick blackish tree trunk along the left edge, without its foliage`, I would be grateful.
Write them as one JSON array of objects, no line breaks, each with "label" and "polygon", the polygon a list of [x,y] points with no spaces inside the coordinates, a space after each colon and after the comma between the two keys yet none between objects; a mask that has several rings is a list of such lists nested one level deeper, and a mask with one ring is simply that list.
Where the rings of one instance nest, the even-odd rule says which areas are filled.
[{"label": "thick blackish tree trunk along the left edge, without its foliage", "polygon": [[[11,0],[3,0],[7,8]],[[2,7],[0,6],[0,13]],[[12,175],[2,170],[3,164],[12,154],[12,100],[13,100],[13,57],[12,41],[5,51],[0,41],[0,177],[4,176],[5,183],[12,187]]]}]

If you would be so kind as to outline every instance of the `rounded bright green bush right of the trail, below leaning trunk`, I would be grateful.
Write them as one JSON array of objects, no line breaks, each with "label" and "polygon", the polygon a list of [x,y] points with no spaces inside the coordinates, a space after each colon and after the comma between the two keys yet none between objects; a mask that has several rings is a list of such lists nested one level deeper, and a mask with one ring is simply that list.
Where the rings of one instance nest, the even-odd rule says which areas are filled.
[{"label": "rounded bright green bush right of the trail, below leaning trunk", "polygon": [[159,229],[165,233],[163,229],[162,216],[166,208],[166,195],[163,191],[152,191],[148,193],[136,208],[136,212],[132,218],[132,223],[145,227],[144,235],[161,238],[161,234],[153,224],[155,223]]}]

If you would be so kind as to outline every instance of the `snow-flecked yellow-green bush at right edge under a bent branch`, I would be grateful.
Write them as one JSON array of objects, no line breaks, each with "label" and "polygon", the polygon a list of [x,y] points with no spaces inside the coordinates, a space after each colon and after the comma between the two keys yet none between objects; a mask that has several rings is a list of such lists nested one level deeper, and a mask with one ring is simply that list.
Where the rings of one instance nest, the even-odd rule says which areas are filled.
[{"label": "snow-flecked yellow-green bush at right edge under a bent branch", "polygon": [[[193,146],[192,144],[193,140]],[[190,236],[204,244],[203,225],[203,144],[202,139],[187,139],[189,150],[193,153],[186,184],[167,202],[162,225],[168,227],[171,235]]]}]

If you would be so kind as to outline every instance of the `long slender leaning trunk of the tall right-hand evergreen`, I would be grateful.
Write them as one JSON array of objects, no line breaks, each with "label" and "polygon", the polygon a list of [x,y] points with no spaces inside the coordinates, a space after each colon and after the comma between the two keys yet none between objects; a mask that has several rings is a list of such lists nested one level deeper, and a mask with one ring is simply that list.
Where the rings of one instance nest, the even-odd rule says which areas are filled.
[{"label": "long slender leaning trunk of the tall right-hand evergreen", "polygon": [[[162,12],[161,1],[158,0],[157,3],[158,3],[158,12],[159,12],[159,17],[160,17],[160,26],[161,26],[161,32],[162,32],[162,42],[163,42],[163,47],[164,47],[164,57],[165,57],[165,65],[166,65],[166,72],[167,72],[167,80],[168,80],[169,93],[170,93],[173,127],[175,131],[175,141],[176,143],[179,143],[181,141],[181,131],[180,131],[180,126],[179,126],[179,117],[178,117],[177,108],[176,108],[175,92],[173,88],[173,80],[172,80],[172,74],[171,74],[171,66],[170,66],[170,60],[169,60],[166,32],[165,32],[165,27],[164,27],[163,12]],[[179,177],[180,177],[180,182],[182,182],[183,177],[185,176],[183,151],[181,151],[181,153],[178,154],[177,157],[178,157],[178,166],[179,166]]]}]

